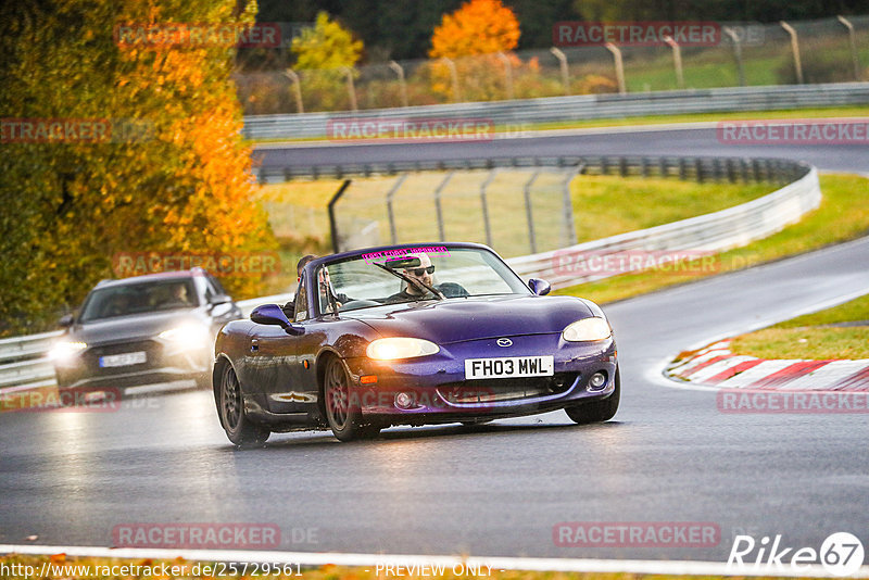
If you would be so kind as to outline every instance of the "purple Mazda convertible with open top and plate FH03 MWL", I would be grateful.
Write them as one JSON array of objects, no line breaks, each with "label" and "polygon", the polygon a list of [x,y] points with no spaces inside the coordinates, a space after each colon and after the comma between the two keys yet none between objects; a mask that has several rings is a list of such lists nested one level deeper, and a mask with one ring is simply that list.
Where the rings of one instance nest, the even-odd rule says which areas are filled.
[{"label": "purple Mazda convertible with open top and plate FH03 MWL", "polygon": [[605,421],[619,403],[601,308],[546,297],[475,243],[390,245],[310,262],[294,303],[257,306],[217,336],[221,424],[238,445],[329,428],[474,425],[565,409]]}]

